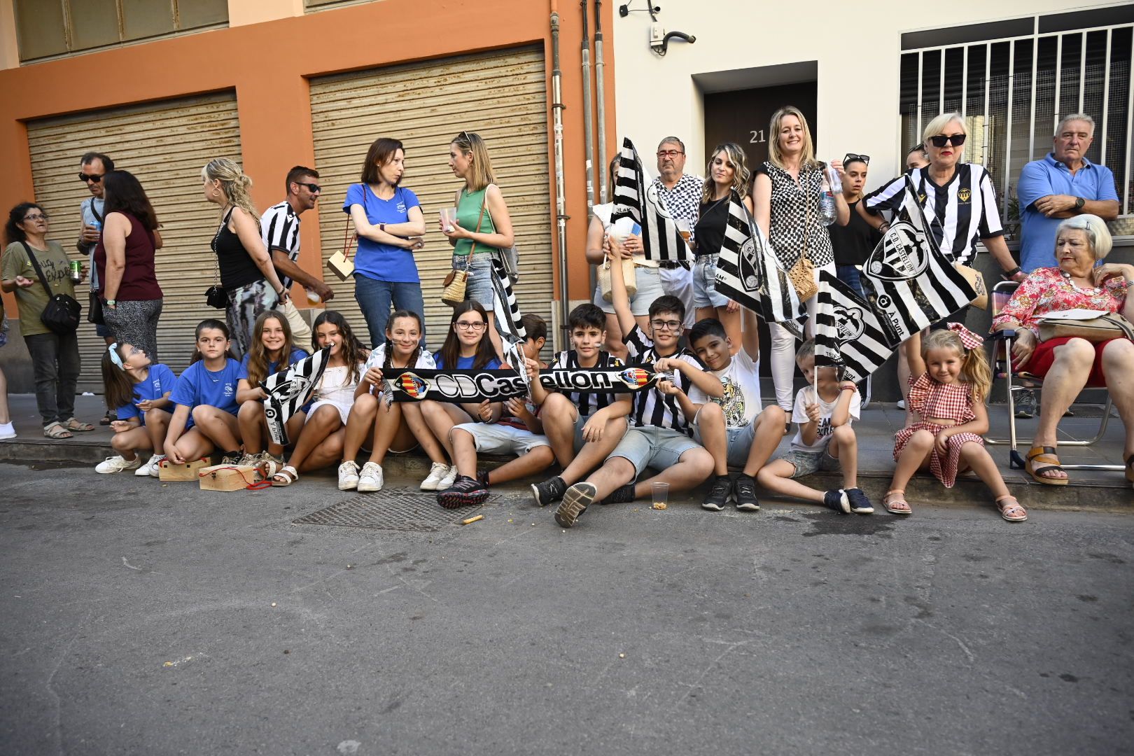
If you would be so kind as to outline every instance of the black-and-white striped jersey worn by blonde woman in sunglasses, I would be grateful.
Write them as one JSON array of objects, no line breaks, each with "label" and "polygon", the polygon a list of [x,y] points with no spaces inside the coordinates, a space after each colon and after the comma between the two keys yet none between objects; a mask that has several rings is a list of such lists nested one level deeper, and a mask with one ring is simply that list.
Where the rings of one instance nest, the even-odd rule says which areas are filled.
[{"label": "black-and-white striped jersey worn by blonde woman in sunglasses", "polygon": [[[960,163],[945,186],[933,184],[929,168],[908,172],[925,221],[941,250],[951,254],[956,263],[968,263],[976,255],[976,243],[1004,233],[996,188],[983,165]],[[899,176],[877,192],[866,195],[863,206],[877,215],[879,211],[897,211],[905,196],[906,177]]]}]

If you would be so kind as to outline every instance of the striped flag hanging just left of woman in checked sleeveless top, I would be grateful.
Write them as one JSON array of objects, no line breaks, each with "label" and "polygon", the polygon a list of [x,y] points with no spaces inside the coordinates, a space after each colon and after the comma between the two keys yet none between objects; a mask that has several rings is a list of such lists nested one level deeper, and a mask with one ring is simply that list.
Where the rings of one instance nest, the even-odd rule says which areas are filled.
[{"label": "striped flag hanging just left of woman in checked sleeveless top", "polygon": [[717,258],[717,291],[803,338],[806,311],[799,295],[735,189],[728,201],[725,240]]}]

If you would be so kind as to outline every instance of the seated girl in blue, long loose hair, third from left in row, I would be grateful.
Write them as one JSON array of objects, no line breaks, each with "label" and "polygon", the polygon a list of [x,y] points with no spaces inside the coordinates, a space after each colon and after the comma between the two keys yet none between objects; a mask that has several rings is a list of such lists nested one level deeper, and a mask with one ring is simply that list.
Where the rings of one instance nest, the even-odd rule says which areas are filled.
[{"label": "seated girl in blue, long loose hair, third from left in row", "polygon": [[[291,343],[291,326],[282,313],[269,309],[260,314],[252,328],[252,345],[248,354],[240,362],[240,372],[236,376],[236,401],[240,405],[236,419],[240,426],[240,438],[244,440],[244,457],[242,465],[259,465],[266,462],[268,477],[276,475],[284,467],[284,448],[277,443],[268,443],[264,451],[264,439],[268,433],[268,421],[264,418],[264,379],[299,362],[307,352]],[[299,435],[306,417],[306,407],[287,423],[289,439]]]}]

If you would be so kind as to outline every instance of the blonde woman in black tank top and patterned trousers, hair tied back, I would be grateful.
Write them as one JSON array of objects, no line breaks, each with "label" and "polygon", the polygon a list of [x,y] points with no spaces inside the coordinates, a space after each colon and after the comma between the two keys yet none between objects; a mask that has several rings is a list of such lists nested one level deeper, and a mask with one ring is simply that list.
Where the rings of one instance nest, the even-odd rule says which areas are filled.
[{"label": "blonde woman in black tank top and patterned trousers, hair tied back", "polygon": [[230,343],[245,355],[260,314],[287,299],[287,291],[260,235],[260,213],[252,204],[252,179],[228,158],[215,158],[201,169],[205,199],[220,205],[220,226],[213,235]]}]

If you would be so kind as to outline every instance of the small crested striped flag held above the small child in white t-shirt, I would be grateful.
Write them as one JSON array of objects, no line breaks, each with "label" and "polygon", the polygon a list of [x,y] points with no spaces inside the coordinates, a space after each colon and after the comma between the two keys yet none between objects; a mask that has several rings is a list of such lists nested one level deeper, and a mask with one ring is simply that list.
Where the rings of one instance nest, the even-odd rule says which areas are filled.
[{"label": "small crested striped flag held above the small child in white t-shirt", "polygon": [[890,341],[878,313],[832,273],[819,271],[815,311],[815,367],[843,368],[858,382],[882,366],[898,345]]}]

